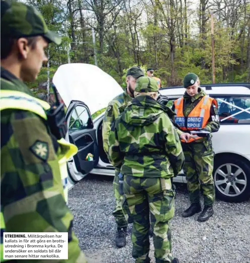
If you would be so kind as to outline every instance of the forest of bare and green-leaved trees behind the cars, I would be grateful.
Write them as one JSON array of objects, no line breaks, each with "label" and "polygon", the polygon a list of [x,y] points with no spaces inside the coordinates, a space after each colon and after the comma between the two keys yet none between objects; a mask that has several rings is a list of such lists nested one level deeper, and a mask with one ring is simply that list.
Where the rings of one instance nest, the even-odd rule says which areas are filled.
[{"label": "forest of bare and green-leaved trees behind the cars", "polygon": [[[54,72],[65,63],[96,64],[124,86],[133,65],[155,69],[162,86],[182,85],[188,72],[212,83],[250,82],[250,0],[23,0],[62,36],[51,44],[37,81],[49,101]],[[88,76],[87,76],[88,77]],[[93,83],[95,79],[93,79]]]}]

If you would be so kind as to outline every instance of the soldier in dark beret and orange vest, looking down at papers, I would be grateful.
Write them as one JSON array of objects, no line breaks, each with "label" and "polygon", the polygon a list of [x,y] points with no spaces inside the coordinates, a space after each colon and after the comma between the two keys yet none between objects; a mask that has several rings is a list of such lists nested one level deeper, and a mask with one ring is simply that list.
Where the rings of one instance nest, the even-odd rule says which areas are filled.
[{"label": "soldier in dark beret and orange vest, looking down at papers", "polygon": [[[188,191],[191,201],[191,206],[184,211],[183,217],[190,217],[201,211],[200,205],[200,190],[204,197],[204,209],[198,217],[198,221],[204,222],[208,220],[214,213],[213,204],[215,199],[215,189],[213,181],[213,160],[214,152],[212,148],[211,134],[205,137],[193,137],[190,135],[191,127],[188,124],[188,119],[196,111],[201,110],[201,102],[207,100],[210,105],[205,105],[203,116],[207,115],[207,121],[203,123],[203,127],[197,130],[207,132],[217,132],[220,127],[219,116],[217,111],[217,102],[215,99],[206,96],[206,93],[200,88],[200,80],[194,73],[189,73],[184,77],[184,87],[186,92],[183,97],[183,107],[180,109],[185,118],[185,125],[177,127],[178,134],[182,139],[183,151],[185,154],[184,171],[188,181]],[[179,101],[180,102],[180,101]],[[176,105],[173,105],[173,111],[176,111]],[[201,110],[202,111],[202,110]],[[204,117],[205,118],[205,117]],[[179,116],[175,117],[175,122]],[[192,118],[191,118],[192,119]],[[197,123],[196,123],[197,124]]]}]

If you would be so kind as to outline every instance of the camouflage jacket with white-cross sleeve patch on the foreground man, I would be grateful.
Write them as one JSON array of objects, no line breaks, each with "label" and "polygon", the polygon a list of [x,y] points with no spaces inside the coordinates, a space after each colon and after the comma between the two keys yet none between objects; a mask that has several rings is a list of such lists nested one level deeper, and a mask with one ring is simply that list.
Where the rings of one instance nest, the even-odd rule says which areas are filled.
[{"label": "camouflage jacket with white-cross sleeve patch on the foreground man", "polygon": [[[4,68],[1,90],[32,96],[28,87]],[[33,147],[38,142],[43,145],[40,155]],[[68,259],[55,261],[86,262],[72,231],[73,215],[64,201],[59,151],[55,137],[38,115],[23,110],[1,111],[1,209],[6,231],[68,232]]]}]

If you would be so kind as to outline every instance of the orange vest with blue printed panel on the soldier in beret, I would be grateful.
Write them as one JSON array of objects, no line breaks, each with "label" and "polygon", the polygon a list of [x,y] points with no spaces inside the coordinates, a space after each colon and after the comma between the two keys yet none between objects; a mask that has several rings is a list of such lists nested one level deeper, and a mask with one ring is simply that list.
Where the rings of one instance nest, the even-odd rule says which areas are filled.
[{"label": "orange vest with blue printed panel on the soldier in beret", "polygon": [[[210,98],[208,95],[204,96],[196,107],[189,113],[188,117],[183,113],[184,98],[179,98],[175,101],[175,123],[182,131],[195,131],[203,129],[210,118],[210,108],[212,104],[217,107],[217,101]],[[189,142],[201,139],[202,137],[191,138]],[[184,140],[182,140],[184,142]]]}]

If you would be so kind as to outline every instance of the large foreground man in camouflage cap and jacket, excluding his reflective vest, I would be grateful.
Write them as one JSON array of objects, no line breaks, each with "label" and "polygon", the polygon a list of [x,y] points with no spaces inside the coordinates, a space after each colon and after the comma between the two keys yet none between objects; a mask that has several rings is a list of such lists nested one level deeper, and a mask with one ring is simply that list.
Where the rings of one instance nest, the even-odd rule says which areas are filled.
[{"label": "large foreground man in camouflage cap and jacket, excluding his reflective vest", "polygon": [[[33,98],[23,81],[35,80],[42,62],[47,61],[44,48],[49,42],[60,44],[61,38],[48,30],[35,8],[1,0],[1,92]],[[28,110],[1,110],[1,213],[6,231],[68,232],[68,259],[49,261],[83,263],[87,261],[64,200],[57,157],[60,151],[41,117]]]}]

